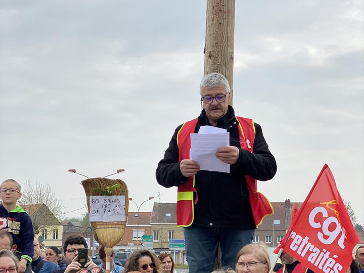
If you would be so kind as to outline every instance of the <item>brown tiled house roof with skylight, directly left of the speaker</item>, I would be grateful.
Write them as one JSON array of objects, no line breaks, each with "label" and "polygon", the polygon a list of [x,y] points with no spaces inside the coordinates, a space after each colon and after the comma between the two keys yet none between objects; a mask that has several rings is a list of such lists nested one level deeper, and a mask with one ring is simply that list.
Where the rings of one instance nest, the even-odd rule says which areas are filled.
[{"label": "brown tiled house roof with skylight, directly left of the speaker", "polygon": [[176,203],[154,203],[151,223],[176,223]]}]

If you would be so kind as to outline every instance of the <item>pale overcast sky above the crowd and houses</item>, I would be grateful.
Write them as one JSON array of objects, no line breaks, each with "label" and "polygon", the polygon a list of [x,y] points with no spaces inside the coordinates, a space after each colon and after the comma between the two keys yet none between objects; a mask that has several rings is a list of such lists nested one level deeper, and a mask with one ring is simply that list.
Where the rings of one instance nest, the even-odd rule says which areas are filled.
[{"label": "pale overcast sky above the crowd and houses", "polygon": [[[200,112],[206,1],[0,5],[0,179],[51,184],[68,217],[86,211],[70,168],[125,168],[113,178],[137,203],[175,202],[155,169],[175,127]],[[364,225],[363,10],[237,1],[233,107],[276,157],[277,175],[258,184],[270,201],[303,202],[327,163]]]}]

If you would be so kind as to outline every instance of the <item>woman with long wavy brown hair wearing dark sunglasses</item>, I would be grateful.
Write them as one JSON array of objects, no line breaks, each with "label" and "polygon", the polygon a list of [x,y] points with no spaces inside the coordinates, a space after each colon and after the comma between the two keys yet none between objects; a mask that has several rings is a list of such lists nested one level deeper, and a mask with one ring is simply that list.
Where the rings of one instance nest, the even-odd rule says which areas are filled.
[{"label": "woman with long wavy brown hair wearing dark sunglasses", "polygon": [[123,273],[160,273],[160,261],[147,249],[135,250],[130,254]]}]

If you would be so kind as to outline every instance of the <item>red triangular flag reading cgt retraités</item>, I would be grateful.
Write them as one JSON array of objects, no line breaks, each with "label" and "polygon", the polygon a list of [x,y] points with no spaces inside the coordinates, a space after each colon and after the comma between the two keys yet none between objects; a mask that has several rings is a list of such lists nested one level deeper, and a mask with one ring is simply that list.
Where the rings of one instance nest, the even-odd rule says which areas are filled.
[{"label": "red triangular flag reading cgt retrait\u00e9s", "polygon": [[315,272],[346,272],[359,242],[328,165],[322,168],[280,246]]}]

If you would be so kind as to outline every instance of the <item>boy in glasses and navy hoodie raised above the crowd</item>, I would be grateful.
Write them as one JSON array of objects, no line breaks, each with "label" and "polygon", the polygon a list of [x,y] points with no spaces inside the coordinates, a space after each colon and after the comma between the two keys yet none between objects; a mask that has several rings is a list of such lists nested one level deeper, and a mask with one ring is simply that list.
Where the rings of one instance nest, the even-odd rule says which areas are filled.
[{"label": "boy in glasses and navy hoodie raised above the crowd", "polygon": [[1,184],[0,199],[3,204],[0,205],[0,229],[12,234],[14,244],[17,245],[16,255],[20,260],[19,273],[24,273],[27,267],[30,268],[34,255],[34,233],[28,213],[17,205],[22,196],[20,190],[20,184],[14,179],[7,179]]}]

